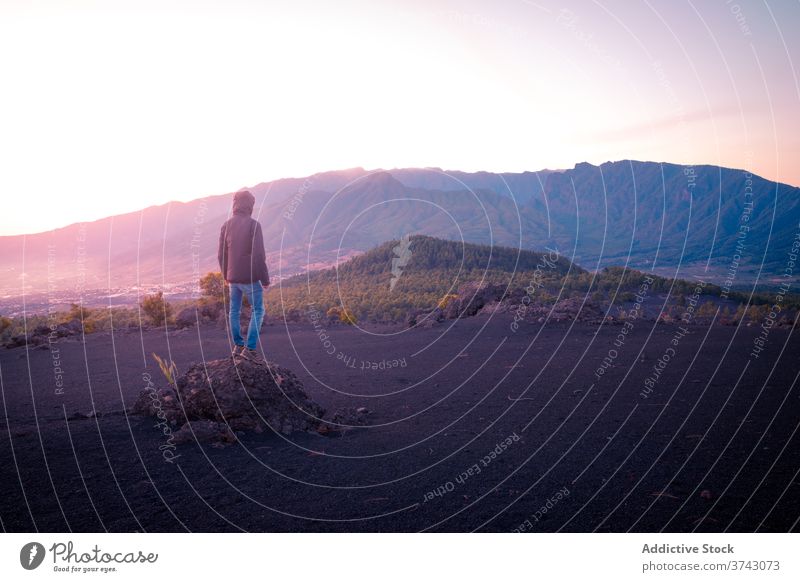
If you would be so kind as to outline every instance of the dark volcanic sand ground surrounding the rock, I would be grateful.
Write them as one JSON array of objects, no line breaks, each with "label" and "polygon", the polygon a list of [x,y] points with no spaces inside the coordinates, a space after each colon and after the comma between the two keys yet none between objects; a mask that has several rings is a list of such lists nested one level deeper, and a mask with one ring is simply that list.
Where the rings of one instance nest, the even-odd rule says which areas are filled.
[{"label": "dark volcanic sand ground surrounding the rock", "polygon": [[152,352],[185,370],[229,353],[224,330],[0,350],[0,525],[798,531],[798,334],[773,329],[754,358],[757,327],[639,321],[615,345],[620,326],[510,324],[269,326],[270,360],[328,409],[367,407],[370,426],[188,444],[172,462],[153,419],[124,410],[146,374],[163,383]]}]

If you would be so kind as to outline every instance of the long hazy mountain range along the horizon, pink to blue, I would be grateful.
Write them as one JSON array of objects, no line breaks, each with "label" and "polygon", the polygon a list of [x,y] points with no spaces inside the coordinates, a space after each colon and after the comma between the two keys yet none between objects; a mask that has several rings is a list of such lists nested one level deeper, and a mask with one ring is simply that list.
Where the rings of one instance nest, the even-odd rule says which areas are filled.
[{"label": "long hazy mountain range along the horizon, pink to blue", "polygon": [[[337,264],[413,234],[541,250],[580,266],[777,281],[800,189],[745,170],[618,161],[522,173],[355,168],[257,184],[273,277]],[[218,270],[230,194],[0,237],[0,292],[130,289]]]}]

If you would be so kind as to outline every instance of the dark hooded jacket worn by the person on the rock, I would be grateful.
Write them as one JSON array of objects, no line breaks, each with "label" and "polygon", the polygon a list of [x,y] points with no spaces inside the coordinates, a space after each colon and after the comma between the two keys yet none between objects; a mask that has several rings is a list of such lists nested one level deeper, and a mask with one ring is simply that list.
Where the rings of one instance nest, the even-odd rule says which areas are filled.
[{"label": "dark hooded jacket worn by the person on the rock", "polygon": [[255,197],[243,190],[233,196],[233,216],[225,221],[219,233],[217,258],[223,278],[228,283],[269,285],[267,257],[261,224],[250,215]]}]

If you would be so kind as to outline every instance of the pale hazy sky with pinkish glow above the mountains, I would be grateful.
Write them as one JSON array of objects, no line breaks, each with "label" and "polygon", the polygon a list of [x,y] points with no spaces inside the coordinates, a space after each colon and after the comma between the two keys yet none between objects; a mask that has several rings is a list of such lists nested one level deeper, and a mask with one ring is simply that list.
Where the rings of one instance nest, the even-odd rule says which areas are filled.
[{"label": "pale hazy sky with pinkish glow above the mountains", "polygon": [[0,0],[0,235],[354,166],[800,185],[798,29],[790,0]]}]

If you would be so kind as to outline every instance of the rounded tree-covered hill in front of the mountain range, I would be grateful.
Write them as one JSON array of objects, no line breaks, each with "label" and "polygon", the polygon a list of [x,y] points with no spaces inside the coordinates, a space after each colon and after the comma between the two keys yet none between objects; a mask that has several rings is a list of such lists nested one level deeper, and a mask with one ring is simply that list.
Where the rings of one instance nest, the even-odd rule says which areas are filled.
[{"label": "rounded tree-covered hill in front of the mountain range", "polygon": [[467,282],[522,288],[535,276],[555,283],[586,271],[555,252],[543,253],[416,235],[394,240],[338,266],[282,281],[270,289],[274,312],[344,307],[359,319],[398,320],[433,308]]}]

